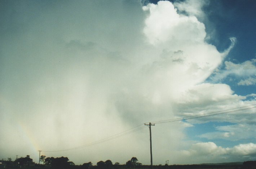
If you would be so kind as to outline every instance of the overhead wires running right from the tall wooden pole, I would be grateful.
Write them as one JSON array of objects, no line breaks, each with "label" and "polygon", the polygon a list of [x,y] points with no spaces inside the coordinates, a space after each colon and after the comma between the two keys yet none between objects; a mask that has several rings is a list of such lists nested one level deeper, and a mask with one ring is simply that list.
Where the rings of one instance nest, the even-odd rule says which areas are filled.
[{"label": "overhead wires running right from the tall wooden pole", "polygon": [[195,118],[216,116],[216,115],[219,115],[219,114],[227,114],[227,113],[232,113],[232,112],[238,112],[238,111],[253,109],[253,108],[256,108],[255,105],[256,104],[247,105],[247,106],[238,107],[238,108],[233,108],[233,109],[226,109],[226,110],[217,111],[217,112],[198,114],[198,115],[194,115],[194,116],[187,116],[187,117],[181,117],[181,118],[175,118],[175,119],[167,119],[167,120],[156,121],[156,122],[151,122],[151,123],[154,123],[154,124],[169,123],[169,122],[176,122],[176,121],[189,120],[189,119],[195,119]]}]

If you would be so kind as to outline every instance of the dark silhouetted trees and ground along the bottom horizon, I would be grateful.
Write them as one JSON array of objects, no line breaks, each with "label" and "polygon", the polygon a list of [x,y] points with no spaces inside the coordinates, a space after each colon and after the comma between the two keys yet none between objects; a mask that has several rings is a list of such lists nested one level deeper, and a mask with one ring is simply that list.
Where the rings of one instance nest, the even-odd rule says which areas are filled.
[{"label": "dark silhouetted trees and ground along the bottom horizon", "polygon": [[[92,162],[84,163],[82,165],[75,165],[72,161],[69,161],[67,157],[47,157],[40,156],[41,164],[35,164],[33,159],[29,155],[26,157],[17,158],[12,161],[0,160],[1,168],[45,168],[45,169],[149,169],[150,165],[142,165],[138,162],[136,157],[132,157],[125,164],[115,163],[111,160],[98,161],[96,165]],[[256,161],[244,161],[241,164],[226,164],[226,165],[207,165],[207,164],[193,164],[193,165],[154,165],[154,169],[256,169]]]}]

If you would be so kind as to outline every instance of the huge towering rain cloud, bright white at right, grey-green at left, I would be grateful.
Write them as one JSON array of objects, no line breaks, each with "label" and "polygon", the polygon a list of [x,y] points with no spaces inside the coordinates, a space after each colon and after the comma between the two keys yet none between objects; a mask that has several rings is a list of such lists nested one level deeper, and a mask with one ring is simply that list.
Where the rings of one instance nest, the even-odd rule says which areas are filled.
[{"label": "huge towering rain cloud, bright white at right, grey-green at left", "polygon": [[[205,25],[193,11],[180,14],[169,1],[144,7],[138,1],[66,1],[61,8],[41,5],[44,8],[32,5],[28,11],[18,10],[26,6],[12,6],[19,13],[9,20],[23,22],[26,19],[19,18],[34,16],[37,10],[40,13],[30,18],[29,25],[22,23],[27,32],[19,30],[17,36],[9,32],[5,43],[0,42],[4,56],[1,70],[6,73],[1,76],[4,118],[0,123],[5,127],[0,128],[0,134],[13,134],[0,143],[1,149],[8,147],[0,153],[11,155],[13,146],[22,153],[25,148],[19,147],[26,147],[29,152],[25,155],[37,157],[31,140],[36,149],[61,150],[144,122],[251,103],[243,102],[244,97],[235,95],[226,84],[204,83],[233,46],[223,54],[207,43]],[[19,22],[13,24],[21,29]],[[16,130],[22,125],[26,135]],[[187,145],[182,141],[186,137],[183,131],[192,125],[179,122],[166,126],[168,130],[154,128],[157,163],[170,157],[171,150]],[[149,164],[147,137],[148,131],[141,130],[122,141],[65,155],[76,164],[91,156],[97,157],[92,159],[94,164],[104,158],[125,163],[140,149],[137,158]],[[13,142],[15,145],[9,144]],[[222,150],[211,143],[194,145],[193,151],[203,146]]]}]

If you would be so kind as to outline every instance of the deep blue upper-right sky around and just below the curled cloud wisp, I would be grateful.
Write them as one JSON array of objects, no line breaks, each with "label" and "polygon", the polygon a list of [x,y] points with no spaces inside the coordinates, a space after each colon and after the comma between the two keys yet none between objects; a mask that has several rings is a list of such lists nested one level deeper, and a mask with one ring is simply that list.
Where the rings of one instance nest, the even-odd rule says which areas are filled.
[{"label": "deep blue upper-right sky around and just below the curled cloud wisp", "polygon": [[[226,60],[239,64],[255,58],[254,39],[256,37],[256,33],[253,29],[256,27],[256,22],[253,9],[255,8],[256,3],[254,1],[243,2],[228,0],[210,1],[210,4],[211,6],[209,10],[211,12],[209,14],[209,20],[215,23],[215,35],[217,39],[214,39],[217,42],[212,43],[218,50],[222,51],[229,45],[229,37],[237,38],[236,45],[230,51]],[[250,94],[251,91],[255,89],[255,85],[240,86],[230,81],[230,78],[236,80],[234,75],[230,75],[224,79],[222,83],[229,84],[236,94]]]}]

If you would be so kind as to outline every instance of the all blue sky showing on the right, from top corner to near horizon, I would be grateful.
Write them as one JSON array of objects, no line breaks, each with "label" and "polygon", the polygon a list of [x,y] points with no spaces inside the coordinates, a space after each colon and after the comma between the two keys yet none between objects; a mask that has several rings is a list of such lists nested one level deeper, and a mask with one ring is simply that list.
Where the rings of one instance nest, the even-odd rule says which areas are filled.
[{"label": "all blue sky showing on the right, from top corner to near horizon", "polygon": [[[219,51],[224,51],[230,45],[229,37],[236,37],[237,42],[234,48],[226,56],[225,61],[232,61],[239,64],[252,58],[255,58],[255,37],[256,19],[254,17],[256,3],[254,1],[209,1],[209,6],[204,8],[206,12],[209,25],[206,24],[206,32],[212,31],[214,25],[215,34],[208,42],[217,47]],[[225,69],[225,66],[221,66]],[[254,75],[255,77],[255,75]],[[248,95],[255,93],[256,86],[254,85],[238,85],[237,83],[243,77],[237,77],[230,74],[226,78],[220,80],[220,83],[228,84],[235,94]],[[211,76],[208,80],[211,82]],[[248,97],[248,100],[255,99]],[[200,135],[207,132],[216,131],[217,126],[235,125],[229,122],[209,122],[203,124],[196,124],[193,127],[187,128],[187,135],[189,139],[209,141],[206,138],[201,138]],[[245,144],[247,142],[255,142],[255,136],[250,139],[241,140],[225,140],[211,139],[219,146],[230,147],[237,144]]]}]

